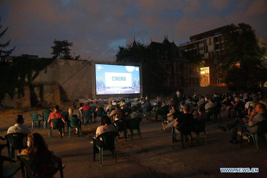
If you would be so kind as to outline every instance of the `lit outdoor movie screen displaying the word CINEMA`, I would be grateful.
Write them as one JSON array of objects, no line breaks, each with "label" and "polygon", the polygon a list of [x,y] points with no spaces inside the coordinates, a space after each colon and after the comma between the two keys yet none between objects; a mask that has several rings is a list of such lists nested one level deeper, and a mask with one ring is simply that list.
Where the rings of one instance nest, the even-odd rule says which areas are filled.
[{"label": "lit outdoor movie screen displaying the word CINEMA", "polygon": [[95,64],[96,94],[140,94],[140,69],[136,66]]}]

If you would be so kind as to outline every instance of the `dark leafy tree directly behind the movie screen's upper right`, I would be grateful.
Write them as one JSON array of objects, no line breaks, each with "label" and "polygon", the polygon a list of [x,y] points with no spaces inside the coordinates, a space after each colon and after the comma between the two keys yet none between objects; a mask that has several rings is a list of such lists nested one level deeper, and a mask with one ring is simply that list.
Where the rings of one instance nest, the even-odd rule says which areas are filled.
[{"label": "dark leafy tree directly behind the movie screen's upper right", "polygon": [[161,66],[157,62],[157,54],[149,45],[139,42],[133,45],[119,46],[116,54],[117,62],[136,62],[142,64],[143,93],[151,93],[163,88],[165,78],[161,75]]}]

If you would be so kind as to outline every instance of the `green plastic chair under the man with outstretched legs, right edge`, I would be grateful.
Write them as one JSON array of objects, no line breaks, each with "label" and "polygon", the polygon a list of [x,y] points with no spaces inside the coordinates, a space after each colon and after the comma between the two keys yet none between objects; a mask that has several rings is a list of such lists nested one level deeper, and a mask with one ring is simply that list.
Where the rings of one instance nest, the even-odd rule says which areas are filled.
[{"label": "green plastic chair under the man with outstretched legs, right edge", "polygon": [[[249,131],[245,130],[245,128],[252,128],[252,127],[256,127],[256,126],[258,127],[257,133],[250,133]],[[243,125],[242,132],[241,132],[241,142],[240,142],[241,147],[242,147],[243,133],[252,137],[255,149],[259,150],[259,148],[258,148],[258,136],[262,135],[265,138],[265,141],[267,142],[267,139],[266,139],[267,120],[258,122],[252,126]]]}]

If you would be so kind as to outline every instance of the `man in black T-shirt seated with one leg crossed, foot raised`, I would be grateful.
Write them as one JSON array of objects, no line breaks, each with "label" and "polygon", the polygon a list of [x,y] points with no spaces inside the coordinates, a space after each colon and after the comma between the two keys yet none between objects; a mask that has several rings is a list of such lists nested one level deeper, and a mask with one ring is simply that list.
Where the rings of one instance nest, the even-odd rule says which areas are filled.
[{"label": "man in black T-shirt seated with one leg crossed, foot raised", "polygon": [[[189,111],[190,111],[190,105],[189,104],[184,105],[183,111],[184,111],[183,114],[180,114],[177,119],[174,119],[169,124],[166,124],[165,122],[163,122],[162,123],[163,129],[167,130],[168,128],[177,127],[177,126],[179,126],[182,123],[187,122],[187,121],[193,122],[194,117],[192,114],[189,113]],[[182,131],[182,130],[176,129],[176,132],[180,132],[180,131]]]}]

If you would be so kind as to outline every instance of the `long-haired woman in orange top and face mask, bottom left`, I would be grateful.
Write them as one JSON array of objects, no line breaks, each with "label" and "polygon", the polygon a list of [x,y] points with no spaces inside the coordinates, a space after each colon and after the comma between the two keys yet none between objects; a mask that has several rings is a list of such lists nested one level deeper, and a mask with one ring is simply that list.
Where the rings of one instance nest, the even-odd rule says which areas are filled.
[{"label": "long-haired woman in orange top and face mask, bottom left", "polygon": [[[55,154],[52,150],[48,150],[48,146],[45,143],[44,138],[40,133],[32,133],[27,137],[28,148],[23,149],[21,155],[34,155],[46,159],[52,159],[56,162],[61,162],[61,157]],[[62,166],[64,168],[64,165]],[[56,168],[56,165],[42,164],[36,166],[37,172],[42,172],[42,175],[50,175],[50,172],[53,172]]]}]

